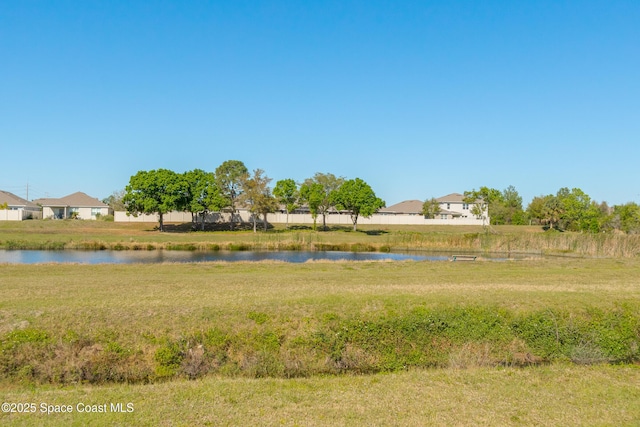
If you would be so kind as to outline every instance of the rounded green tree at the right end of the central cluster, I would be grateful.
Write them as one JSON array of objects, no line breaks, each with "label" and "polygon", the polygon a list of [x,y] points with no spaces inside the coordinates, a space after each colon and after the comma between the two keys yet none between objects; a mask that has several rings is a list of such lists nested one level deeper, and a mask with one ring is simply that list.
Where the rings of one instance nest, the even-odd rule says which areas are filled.
[{"label": "rounded green tree at the right end of the central cluster", "polygon": [[360,178],[345,181],[334,193],[333,200],[340,210],[350,212],[353,230],[357,230],[358,217],[370,217],[385,207],[382,199],[376,197],[369,184]]}]

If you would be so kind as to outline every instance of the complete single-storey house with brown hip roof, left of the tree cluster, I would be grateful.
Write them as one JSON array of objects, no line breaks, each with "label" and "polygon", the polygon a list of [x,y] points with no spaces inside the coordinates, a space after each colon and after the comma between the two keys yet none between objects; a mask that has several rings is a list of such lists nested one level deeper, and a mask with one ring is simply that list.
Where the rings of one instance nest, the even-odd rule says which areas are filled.
[{"label": "complete single-storey house with brown hip roof, left of the tree cluster", "polygon": [[107,204],[80,191],[60,199],[37,199],[34,203],[42,206],[43,218],[96,219],[112,213]]}]

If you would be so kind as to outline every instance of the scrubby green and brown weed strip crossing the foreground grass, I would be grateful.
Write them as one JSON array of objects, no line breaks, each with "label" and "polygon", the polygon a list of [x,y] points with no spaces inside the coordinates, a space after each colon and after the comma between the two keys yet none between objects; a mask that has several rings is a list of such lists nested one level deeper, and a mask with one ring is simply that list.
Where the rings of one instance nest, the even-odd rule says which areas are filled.
[{"label": "scrubby green and brown weed strip crossing the foreground grass", "polygon": [[[640,307],[580,313],[496,307],[414,309],[376,318],[327,313],[302,331],[250,312],[243,329],[208,323],[181,337],[5,333],[0,374],[27,383],[148,383],[168,378],[309,377],[409,368],[640,362]],[[309,323],[311,324],[311,322]]]}]

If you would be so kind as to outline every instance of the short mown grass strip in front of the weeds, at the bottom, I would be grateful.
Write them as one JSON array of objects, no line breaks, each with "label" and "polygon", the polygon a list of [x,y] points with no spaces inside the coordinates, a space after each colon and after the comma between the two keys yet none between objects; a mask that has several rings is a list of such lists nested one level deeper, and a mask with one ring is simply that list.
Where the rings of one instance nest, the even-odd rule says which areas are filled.
[{"label": "short mown grass strip in front of the weeds, at the bottom", "polygon": [[[301,379],[205,378],[149,385],[40,387],[3,392],[35,413],[14,426],[637,426],[637,366],[417,370]],[[71,405],[47,414],[41,405]],[[122,403],[133,412],[111,412]],[[127,404],[131,406],[127,407]],[[78,412],[78,404],[106,413]],[[83,409],[82,407],[80,409]]]}]

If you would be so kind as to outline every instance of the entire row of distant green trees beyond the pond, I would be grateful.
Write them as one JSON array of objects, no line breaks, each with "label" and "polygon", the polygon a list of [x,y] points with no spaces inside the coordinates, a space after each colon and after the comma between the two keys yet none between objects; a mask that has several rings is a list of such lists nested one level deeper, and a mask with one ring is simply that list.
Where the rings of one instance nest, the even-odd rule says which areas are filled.
[{"label": "entire row of distant green trees beyond the pond", "polygon": [[[241,161],[227,160],[214,172],[201,169],[185,173],[167,169],[139,171],[123,191],[113,193],[104,202],[114,210],[127,210],[134,215],[158,214],[161,230],[163,214],[173,210],[191,212],[194,224],[201,218],[202,228],[209,212],[227,212],[233,229],[234,214],[240,204],[254,213],[254,231],[255,218],[260,215],[265,218],[266,227],[266,214],[282,207],[289,213],[301,206],[309,210],[314,221],[322,216],[325,228],[324,219],[329,211],[349,212],[355,229],[359,217],[368,217],[385,206],[360,178],[346,180],[331,173],[316,173],[302,183],[283,179],[271,188],[270,182],[271,178],[263,170],[256,169],[250,174]],[[464,195],[471,213],[481,216],[488,209],[492,225],[537,224],[550,230],[589,233],[640,232],[638,204],[630,202],[611,207],[606,202],[592,200],[579,188],[565,187],[556,194],[534,197],[526,209],[513,186],[503,191],[480,187],[465,191]],[[435,217],[439,209],[432,198],[424,202],[422,213]]]}]

